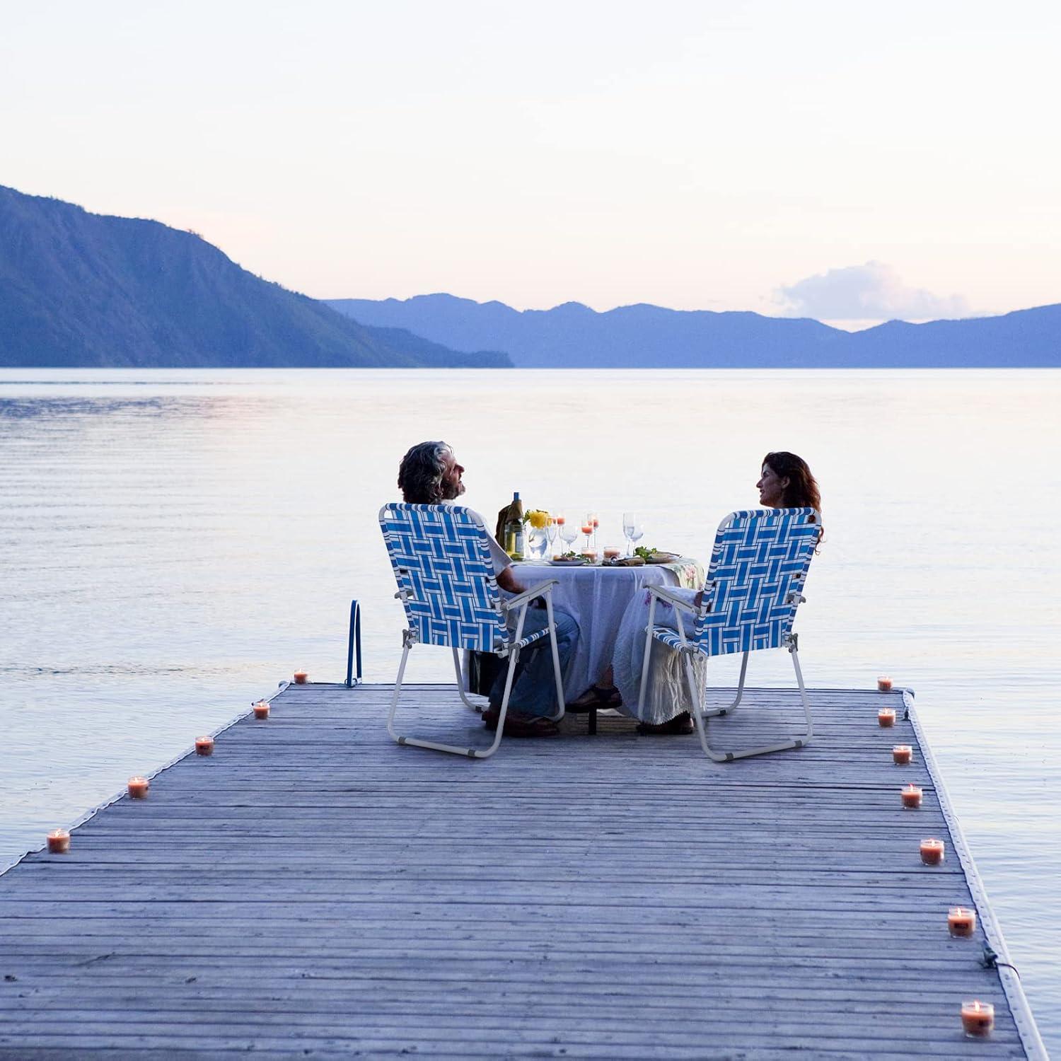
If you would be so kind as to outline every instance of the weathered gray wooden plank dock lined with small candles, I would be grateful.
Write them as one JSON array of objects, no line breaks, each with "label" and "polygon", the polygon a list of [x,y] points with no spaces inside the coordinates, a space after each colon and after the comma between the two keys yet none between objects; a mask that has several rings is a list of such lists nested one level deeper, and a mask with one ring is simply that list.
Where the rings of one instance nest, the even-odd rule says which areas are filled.
[{"label": "weathered gray wooden plank dock lined with small candles", "polygon": [[[1046,1057],[980,963],[1005,950],[909,696],[815,691],[813,744],[719,765],[577,716],[485,762],[402,748],[389,691],[289,686],[0,876],[0,1058]],[[451,689],[406,702],[405,731],[487,735]],[[718,729],[799,717],[758,690]]]}]

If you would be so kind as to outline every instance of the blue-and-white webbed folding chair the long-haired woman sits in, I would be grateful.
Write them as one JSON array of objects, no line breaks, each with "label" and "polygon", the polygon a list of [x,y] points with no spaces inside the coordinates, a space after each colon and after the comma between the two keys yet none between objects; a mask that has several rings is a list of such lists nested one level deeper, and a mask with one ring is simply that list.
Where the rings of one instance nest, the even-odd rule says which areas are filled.
[{"label": "blue-and-white webbed folding chair the long-haired woman sits in", "polygon": [[[648,587],[648,625],[641,673],[641,702],[649,679],[648,658],[653,641],[659,641],[684,656],[685,681],[696,730],[705,752],[715,762],[746,759],[770,751],[802,748],[814,736],[814,719],[803,673],[799,665],[797,636],[793,633],[796,609],[805,597],[802,590],[807,568],[821,536],[821,516],[813,508],[755,508],[731,512],[718,525],[711,551],[711,569],[699,607],[675,593]],[[656,603],[665,601],[676,609],[674,627],[656,625]],[[686,638],[681,613],[692,613],[693,632]],[[708,718],[731,714],[744,695],[748,654],[761,648],[787,648],[792,654],[806,718],[806,732],[778,744],[744,751],[720,751],[708,744]],[[725,708],[705,708],[705,688],[696,681],[693,654],[711,658],[744,653],[736,697]]]}]

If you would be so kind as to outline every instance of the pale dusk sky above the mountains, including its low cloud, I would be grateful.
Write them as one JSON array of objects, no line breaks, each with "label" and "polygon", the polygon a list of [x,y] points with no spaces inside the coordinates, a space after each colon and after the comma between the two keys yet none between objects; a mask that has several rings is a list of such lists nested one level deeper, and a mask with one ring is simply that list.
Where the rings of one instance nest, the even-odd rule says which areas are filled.
[{"label": "pale dusk sky above the mountains, including its low cloud", "polygon": [[320,298],[1061,302],[1061,5],[0,2],[0,184]]}]

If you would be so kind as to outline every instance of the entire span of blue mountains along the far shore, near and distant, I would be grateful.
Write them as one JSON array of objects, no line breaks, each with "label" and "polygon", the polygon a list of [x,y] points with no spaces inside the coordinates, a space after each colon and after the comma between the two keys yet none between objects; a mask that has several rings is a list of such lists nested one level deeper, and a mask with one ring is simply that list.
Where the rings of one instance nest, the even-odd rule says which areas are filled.
[{"label": "entire span of blue mountains along the far shore, near and distant", "polygon": [[192,232],[0,187],[0,367],[1061,366],[1061,305],[849,333],[758,313],[317,301]]}]

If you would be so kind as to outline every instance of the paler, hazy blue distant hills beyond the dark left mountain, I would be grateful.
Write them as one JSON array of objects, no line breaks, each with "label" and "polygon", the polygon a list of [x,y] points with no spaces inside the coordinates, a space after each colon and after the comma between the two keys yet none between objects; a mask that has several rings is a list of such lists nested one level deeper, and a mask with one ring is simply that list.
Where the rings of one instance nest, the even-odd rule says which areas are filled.
[{"label": "paler, hazy blue distant hills beyond the dark left mountain", "polygon": [[854,333],[817,320],[646,305],[519,311],[452,295],[328,305],[361,324],[406,328],[455,350],[504,350],[518,368],[1061,366],[1061,305],[968,320],[892,320]]}]

